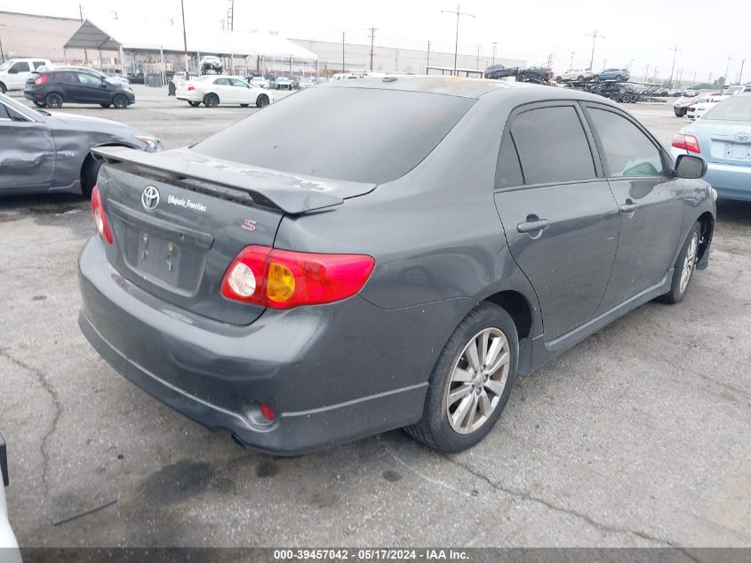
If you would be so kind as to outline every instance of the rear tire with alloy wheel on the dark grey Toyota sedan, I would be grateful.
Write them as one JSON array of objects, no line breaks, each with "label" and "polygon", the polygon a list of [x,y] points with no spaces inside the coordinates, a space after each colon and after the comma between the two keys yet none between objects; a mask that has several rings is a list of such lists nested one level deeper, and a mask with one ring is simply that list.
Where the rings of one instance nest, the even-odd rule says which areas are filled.
[{"label": "rear tire with alloy wheel on the dark grey Toyota sedan", "polygon": [[497,305],[480,303],[459,323],[435,363],[422,418],[404,430],[439,452],[475,446],[506,406],[518,357],[514,320]]}]

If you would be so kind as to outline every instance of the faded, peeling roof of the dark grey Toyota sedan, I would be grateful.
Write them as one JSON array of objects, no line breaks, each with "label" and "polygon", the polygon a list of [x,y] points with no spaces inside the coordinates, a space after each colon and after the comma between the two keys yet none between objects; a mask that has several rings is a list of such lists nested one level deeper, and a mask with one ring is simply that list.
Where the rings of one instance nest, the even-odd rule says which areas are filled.
[{"label": "faded, peeling roof of the dark grey Toyota sedan", "polygon": [[373,88],[403,92],[425,92],[481,98],[488,94],[510,95],[521,101],[538,100],[589,100],[606,101],[602,96],[580,92],[571,88],[557,88],[541,84],[528,84],[505,80],[462,78],[456,76],[384,76],[333,82],[327,88]]}]

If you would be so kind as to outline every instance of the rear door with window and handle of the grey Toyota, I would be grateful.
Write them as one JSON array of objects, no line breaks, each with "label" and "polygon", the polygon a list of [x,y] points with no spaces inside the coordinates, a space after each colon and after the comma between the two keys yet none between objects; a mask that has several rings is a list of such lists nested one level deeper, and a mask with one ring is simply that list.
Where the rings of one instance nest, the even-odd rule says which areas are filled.
[{"label": "rear door with window and handle of the grey Toyota", "polygon": [[619,217],[576,102],[512,113],[495,204],[508,247],[538,296],[545,340],[586,323],[608,285]]}]

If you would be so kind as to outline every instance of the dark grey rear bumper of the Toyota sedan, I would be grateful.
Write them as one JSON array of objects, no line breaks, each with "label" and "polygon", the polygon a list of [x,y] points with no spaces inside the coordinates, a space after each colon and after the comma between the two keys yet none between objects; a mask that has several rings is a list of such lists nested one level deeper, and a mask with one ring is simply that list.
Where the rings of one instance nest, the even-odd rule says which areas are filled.
[{"label": "dark grey rear bumper of the Toyota sedan", "polygon": [[[444,329],[467,306],[387,311],[356,296],[231,326],[188,317],[134,286],[109,265],[99,238],[78,264],[79,325],[102,358],[181,414],[274,454],[417,421]],[[261,402],[276,421],[260,418]]]}]

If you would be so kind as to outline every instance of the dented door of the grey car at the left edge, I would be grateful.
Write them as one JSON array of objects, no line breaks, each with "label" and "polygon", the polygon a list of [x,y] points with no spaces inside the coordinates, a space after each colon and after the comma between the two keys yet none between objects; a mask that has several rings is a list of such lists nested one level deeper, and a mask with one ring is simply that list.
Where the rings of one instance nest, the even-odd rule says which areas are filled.
[{"label": "dented door of the grey car at the left edge", "polygon": [[49,127],[0,101],[0,193],[45,186],[55,172],[55,142]]}]

